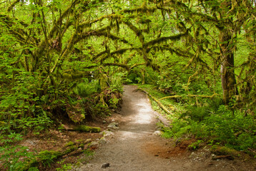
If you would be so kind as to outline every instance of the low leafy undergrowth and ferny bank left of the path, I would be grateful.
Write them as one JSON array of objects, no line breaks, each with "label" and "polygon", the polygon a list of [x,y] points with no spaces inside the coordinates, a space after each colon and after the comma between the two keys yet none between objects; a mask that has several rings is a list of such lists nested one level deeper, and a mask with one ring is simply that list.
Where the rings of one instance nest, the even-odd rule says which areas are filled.
[{"label": "low leafy undergrowth and ferny bank left of the path", "polygon": [[[68,130],[80,124],[97,124],[102,127],[102,118],[112,115],[111,110],[118,110],[122,81],[117,76],[109,79],[106,87],[101,87],[98,80],[89,81],[84,78],[80,83],[74,83],[67,88],[69,92],[55,92],[53,88],[49,88],[47,90],[51,92],[40,97],[27,96],[20,92],[17,92],[16,96],[1,96],[0,170],[54,168],[57,164],[53,163],[61,158],[59,155],[46,155],[46,159],[37,162],[35,166],[28,166],[28,163],[33,163],[31,161],[36,160],[36,155],[41,151],[59,150],[67,142],[77,139],[99,138],[98,133],[77,133],[74,129],[71,129],[72,132]],[[99,129],[91,132],[99,132]],[[64,160],[65,156],[62,158]],[[73,161],[72,157],[69,157],[65,162],[58,162],[69,167],[68,162],[74,163],[77,160]]]}]

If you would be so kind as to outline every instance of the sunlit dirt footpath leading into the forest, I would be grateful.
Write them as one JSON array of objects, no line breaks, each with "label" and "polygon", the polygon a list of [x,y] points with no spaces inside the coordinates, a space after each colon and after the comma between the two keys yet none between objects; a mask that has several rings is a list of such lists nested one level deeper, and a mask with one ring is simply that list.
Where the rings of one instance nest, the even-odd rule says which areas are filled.
[{"label": "sunlit dirt footpath leading into the forest", "polygon": [[[92,160],[74,170],[254,170],[244,162],[211,160],[207,149],[190,152],[189,141],[175,146],[172,140],[154,135],[156,113],[147,96],[135,91],[135,86],[124,86],[122,121],[107,143],[100,145]],[[118,122],[118,120],[117,120]],[[104,163],[109,167],[102,168]],[[108,165],[107,165],[108,166]]]}]

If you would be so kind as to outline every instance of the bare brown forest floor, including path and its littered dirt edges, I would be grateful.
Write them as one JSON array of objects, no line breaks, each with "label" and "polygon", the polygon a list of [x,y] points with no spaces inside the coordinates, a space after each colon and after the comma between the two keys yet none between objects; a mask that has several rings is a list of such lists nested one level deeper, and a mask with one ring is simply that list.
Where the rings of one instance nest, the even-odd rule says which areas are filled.
[{"label": "bare brown forest floor, including path and its littered dirt edges", "polygon": [[[86,152],[81,149],[39,170],[64,170],[72,163],[72,170],[255,170],[256,161],[241,153],[230,160],[213,154],[210,147],[189,150],[196,140],[182,141],[164,139],[157,135],[157,122],[161,115],[152,110],[147,96],[136,91],[136,86],[124,86],[123,104],[120,113],[87,123],[99,126],[112,133],[99,142],[102,134],[50,130],[44,135],[27,135],[21,145],[33,151],[57,150],[69,141],[91,138],[97,142]],[[164,120],[164,118],[160,119]],[[164,120],[166,121],[166,120]],[[107,128],[109,123],[119,123],[119,128]],[[109,167],[102,168],[104,163]],[[71,165],[69,165],[71,166]]]}]

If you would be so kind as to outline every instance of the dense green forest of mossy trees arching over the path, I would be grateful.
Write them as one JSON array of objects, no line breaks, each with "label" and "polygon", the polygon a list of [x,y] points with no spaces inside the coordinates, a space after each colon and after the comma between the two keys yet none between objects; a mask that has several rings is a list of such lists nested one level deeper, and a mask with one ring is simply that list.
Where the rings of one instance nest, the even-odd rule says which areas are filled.
[{"label": "dense green forest of mossy trees arching over the path", "polygon": [[0,152],[29,131],[110,115],[135,83],[172,120],[165,137],[256,155],[254,0],[15,0],[0,11]]}]

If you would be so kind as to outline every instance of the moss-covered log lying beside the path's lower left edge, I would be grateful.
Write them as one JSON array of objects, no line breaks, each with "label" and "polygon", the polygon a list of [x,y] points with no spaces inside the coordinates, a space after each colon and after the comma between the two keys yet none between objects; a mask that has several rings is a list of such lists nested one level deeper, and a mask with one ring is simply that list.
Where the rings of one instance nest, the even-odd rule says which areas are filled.
[{"label": "moss-covered log lying beside the path's lower left edge", "polygon": [[91,139],[77,140],[76,142],[68,142],[66,145],[64,145],[64,147],[56,151],[41,151],[33,160],[30,160],[23,168],[21,168],[21,170],[29,170],[30,167],[36,167],[39,165],[39,163],[42,163],[43,165],[50,165],[51,162],[54,162],[54,160],[57,160],[59,157],[67,155],[74,150],[79,148],[84,150],[84,147],[87,147],[90,142],[92,142]]}]

